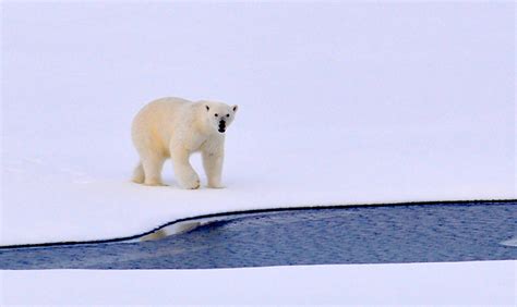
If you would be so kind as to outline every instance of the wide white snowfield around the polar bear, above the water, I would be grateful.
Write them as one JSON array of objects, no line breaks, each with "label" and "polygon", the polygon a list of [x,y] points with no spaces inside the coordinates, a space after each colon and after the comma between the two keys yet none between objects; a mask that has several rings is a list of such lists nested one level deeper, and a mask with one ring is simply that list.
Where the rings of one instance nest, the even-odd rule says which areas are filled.
[{"label": "wide white snowfield around the polar bear, above the water", "polygon": [[[516,198],[514,7],[2,2],[0,245],[233,210]],[[170,164],[171,186],[129,182],[131,120],[163,96],[240,106],[226,189],[181,191]]]}]

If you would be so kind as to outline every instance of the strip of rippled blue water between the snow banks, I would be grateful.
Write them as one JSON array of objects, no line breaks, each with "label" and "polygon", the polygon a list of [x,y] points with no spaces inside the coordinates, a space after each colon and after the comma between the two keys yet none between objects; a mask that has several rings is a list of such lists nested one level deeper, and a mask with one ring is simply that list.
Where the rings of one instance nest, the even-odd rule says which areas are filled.
[{"label": "strip of rippled blue water between the snow banks", "polygon": [[233,216],[159,241],[0,249],[0,269],[200,269],[517,259],[517,202]]}]

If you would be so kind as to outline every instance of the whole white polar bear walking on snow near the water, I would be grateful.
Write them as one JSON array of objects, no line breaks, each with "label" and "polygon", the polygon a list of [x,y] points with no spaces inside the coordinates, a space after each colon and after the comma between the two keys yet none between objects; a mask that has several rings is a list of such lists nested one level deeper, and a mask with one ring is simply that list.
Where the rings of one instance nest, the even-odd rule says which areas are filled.
[{"label": "whole white polar bear walking on snow near the water", "polygon": [[132,126],[133,144],[140,155],[133,181],[161,185],[161,167],[171,158],[176,179],[184,188],[200,187],[200,177],[189,162],[201,151],[209,187],[223,187],[225,131],[236,116],[237,106],[181,98],[163,98],[145,106]]}]

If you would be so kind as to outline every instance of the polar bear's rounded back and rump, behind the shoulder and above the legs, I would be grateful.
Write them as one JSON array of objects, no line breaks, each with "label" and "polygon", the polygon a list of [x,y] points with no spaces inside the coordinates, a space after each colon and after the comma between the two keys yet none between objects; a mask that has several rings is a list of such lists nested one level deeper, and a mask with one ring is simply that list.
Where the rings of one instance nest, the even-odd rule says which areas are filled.
[{"label": "polar bear's rounded back and rump, behind the shoulder and above the legs", "polygon": [[178,123],[184,121],[192,102],[176,97],[160,98],[146,105],[133,120],[131,134],[139,151],[168,156],[169,140]]}]

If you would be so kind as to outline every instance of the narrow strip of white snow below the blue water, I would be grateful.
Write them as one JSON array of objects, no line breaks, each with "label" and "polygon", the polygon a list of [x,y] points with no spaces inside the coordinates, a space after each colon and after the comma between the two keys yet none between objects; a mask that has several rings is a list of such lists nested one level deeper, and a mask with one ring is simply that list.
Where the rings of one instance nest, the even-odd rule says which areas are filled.
[{"label": "narrow strip of white snow below the blue water", "polygon": [[296,266],[217,270],[2,271],[2,306],[507,305],[517,261]]}]

